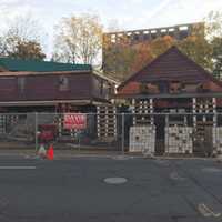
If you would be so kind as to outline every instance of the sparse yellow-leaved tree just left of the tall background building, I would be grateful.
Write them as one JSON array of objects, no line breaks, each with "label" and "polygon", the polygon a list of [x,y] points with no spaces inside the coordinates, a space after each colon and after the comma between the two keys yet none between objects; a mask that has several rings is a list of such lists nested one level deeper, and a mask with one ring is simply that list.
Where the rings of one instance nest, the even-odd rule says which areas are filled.
[{"label": "sparse yellow-leaved tree just left of the tall background building", "polygon": [[92,64],[98,59],[102,26],[97,16],[63,18],[56,31],[53,60]]}]

